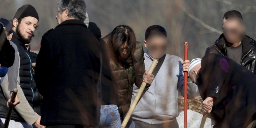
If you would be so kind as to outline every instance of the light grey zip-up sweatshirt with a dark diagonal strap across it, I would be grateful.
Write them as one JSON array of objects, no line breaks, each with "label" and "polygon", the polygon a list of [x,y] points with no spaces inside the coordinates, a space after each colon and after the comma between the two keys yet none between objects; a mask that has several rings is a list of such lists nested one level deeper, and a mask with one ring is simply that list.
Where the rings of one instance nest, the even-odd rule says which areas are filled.
[{"label": "light grey zip-up sweatshirt with a dark diagonal strap across it", "polygon": [[[154,58],[148,52],[144,53],[145,69],[148,71]],[[184,94],[184,76],[180,57],[166,54],[165,60],[159,69],[151,86],[141,98],[132,113],[132,118],[148,124],[171,122],[179,115],[178,91]],[[139,88],[133,86],[133,96]],[[194,98],[198,87],[188,79],[188,98]]]}]

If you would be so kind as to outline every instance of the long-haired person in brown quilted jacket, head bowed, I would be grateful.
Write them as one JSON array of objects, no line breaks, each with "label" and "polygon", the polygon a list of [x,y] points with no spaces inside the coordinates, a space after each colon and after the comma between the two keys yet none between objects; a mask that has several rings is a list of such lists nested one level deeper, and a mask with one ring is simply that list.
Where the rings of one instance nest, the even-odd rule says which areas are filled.
[{"label": "long-haired person in brown quilted jacket, head bowed", "polygon": [[122,120],[130,108],[133,84],[140,87],[144,81],[150,85],[154,75],[145,71],[143,46],[136,41],[129,26],[117,26],[103,40],[110,48],[110,66],[118,88],[118,111]]}]

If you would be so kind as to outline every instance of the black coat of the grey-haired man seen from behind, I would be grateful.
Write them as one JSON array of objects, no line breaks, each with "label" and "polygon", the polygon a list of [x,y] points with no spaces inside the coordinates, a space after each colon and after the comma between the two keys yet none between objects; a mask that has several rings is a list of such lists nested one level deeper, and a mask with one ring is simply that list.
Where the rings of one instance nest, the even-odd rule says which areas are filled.
[{"label": "black coat of the grey-haired man seen from behind", "polygon": [[42,125],[98,125],[101,57],[100,40],[81,20],[43,35],[35,68]]}]

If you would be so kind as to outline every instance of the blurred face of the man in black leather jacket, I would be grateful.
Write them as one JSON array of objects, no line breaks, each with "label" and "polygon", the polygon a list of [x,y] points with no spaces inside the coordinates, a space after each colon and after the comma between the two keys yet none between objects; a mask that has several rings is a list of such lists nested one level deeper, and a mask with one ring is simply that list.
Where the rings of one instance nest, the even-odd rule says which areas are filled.
[{"label": "blurred face of the man in black leather jacket", "polygon": [[245,25],[240,18],[229,18],[223,20],[223,34],[225,39],[231,43],[239,43],[245,35]]}]

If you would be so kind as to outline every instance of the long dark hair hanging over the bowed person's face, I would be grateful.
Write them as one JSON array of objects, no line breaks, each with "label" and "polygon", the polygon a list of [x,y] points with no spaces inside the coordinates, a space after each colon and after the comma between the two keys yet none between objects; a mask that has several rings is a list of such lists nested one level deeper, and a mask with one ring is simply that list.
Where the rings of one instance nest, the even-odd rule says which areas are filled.
[{"label": "long dark hair hanging over the bowed person's face", "polygon": [[125,43],[127,43],[127,47],[125,47],[127,51],[126,56],[128,56],[127,58],[132,57],[136,49],[135,34],[129,26],[119,25],[111,32],[108,40],[108,44],[112,49],[112,54],[116,59],[122,59],[122,46],[125,45]]}]

